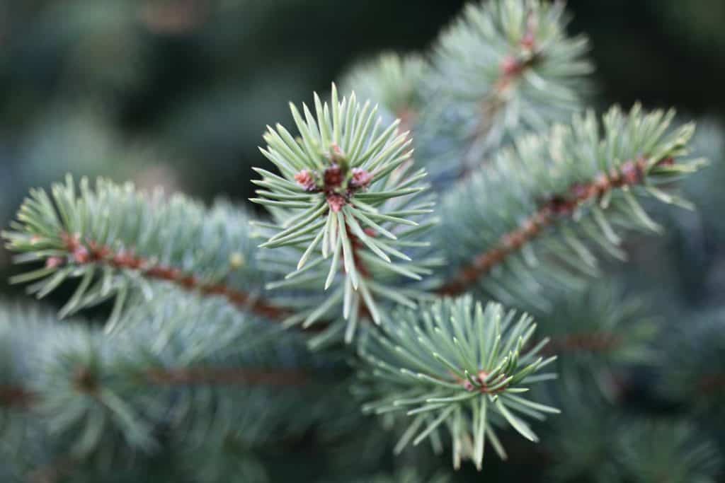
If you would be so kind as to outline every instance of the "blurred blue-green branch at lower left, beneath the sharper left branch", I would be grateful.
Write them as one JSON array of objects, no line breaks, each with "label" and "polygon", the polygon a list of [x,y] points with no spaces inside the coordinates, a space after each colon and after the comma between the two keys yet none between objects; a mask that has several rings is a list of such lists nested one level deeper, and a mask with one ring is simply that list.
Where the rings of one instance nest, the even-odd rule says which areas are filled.
[{"label": "blurred blue-green branch at lower left, beneath the sharper left branch", "polygon": [[160,428],[183,440],[210,418],[230,425],[257,413],[254,424],[279,425],[274,437],[315,423],[317,414],[303,417],[286,404],[318,403],[315,382],[325,377],[302,335],[218,298],[157,287],[152,300],[131,303],[110,334],[0,306],[0,420],[11,423],[2,432],[30,418],[83,459],[114,442],[148,452]]}]

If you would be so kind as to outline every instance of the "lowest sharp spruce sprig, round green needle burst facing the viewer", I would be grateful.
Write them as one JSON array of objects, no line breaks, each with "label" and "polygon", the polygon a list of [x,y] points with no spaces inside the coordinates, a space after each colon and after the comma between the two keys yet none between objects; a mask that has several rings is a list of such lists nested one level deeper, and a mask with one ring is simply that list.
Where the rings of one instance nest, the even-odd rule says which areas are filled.
[{"label": "lowest sharp spruce sprig, round green needle burst facing the viewer", "polygon": [[538,355],[548,340],[531,343],[536,324],[526,314],[517,317],[496,303],[484,308],[465,296],[399,311],[395,319],[395,327],[386,324],[363,340],[359,355],[369,385],[362,394],[371,400],[363,411],[410,418],[397,452],[447,428],[455,467],[468,458],[480,470],[486,440],[506,458],[497,428],[508,424],[536,442],[522,416],[559,412],[520,395],[555,377],[542,373],[555,356]]}]

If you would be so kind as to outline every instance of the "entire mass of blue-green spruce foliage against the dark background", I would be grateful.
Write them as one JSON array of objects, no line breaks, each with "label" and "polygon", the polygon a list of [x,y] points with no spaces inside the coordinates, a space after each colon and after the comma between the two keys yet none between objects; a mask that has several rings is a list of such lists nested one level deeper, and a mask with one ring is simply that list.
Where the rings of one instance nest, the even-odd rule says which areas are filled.
[{"label": "entire mass of blue-green spruce foliage against the dark background", "polygon": [[721,311],[678,332],[635,277],[595,282],[697,216],[674,214],[680,185],[699,201],[695,128],[585,110],[567,23],[560,2],[471,4],[430,52],[291,104],[254,168],[264,214],[70,175],[31,190],[2,232],[30,266],[12,282],[64,303],[0,301],[0,477],[718,481]]}]

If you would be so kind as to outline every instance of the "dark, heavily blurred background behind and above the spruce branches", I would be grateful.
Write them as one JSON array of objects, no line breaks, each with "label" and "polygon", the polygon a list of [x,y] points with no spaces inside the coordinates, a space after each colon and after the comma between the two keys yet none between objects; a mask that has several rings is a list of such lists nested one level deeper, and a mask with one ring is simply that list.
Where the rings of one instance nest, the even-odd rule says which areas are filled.
[{"label": "dark, heavily blurred background behind and above the spruce branches", "polygon": [[[289,125],[288,101],[381,51],[425,49],[463,3],[0,0],[0,224],[28,188],[66,172],[245,200],[250,167],[266,162],[265,125]],[[697,345],[725,306],[725,1],[568,9],[571,33],[592,39],[598,107],[641,100],[700,121],[698,154],[712,166],[684,186],[697,214],[663,211],[668,236],[634,238],[634,263],[617,265],[625,290],[645,294],[664,327],[691,323]],[[22,290],[7,285],[11,271],[0,249],[0,295]]]}]

